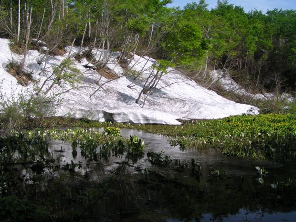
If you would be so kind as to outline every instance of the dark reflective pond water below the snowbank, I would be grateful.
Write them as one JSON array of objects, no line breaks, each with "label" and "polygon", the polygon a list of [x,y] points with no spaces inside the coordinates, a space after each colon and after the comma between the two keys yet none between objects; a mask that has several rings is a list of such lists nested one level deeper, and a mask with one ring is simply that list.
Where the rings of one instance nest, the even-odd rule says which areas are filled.
[{"label": "dark reflective pond water below the snowbank", "polygon": [[[74,159],[70,144],[49,141],[50,150],[60,164],[80,161],[82,167],[76,171],[87,172],[89,181],[104,180],[120,168],[106,198],[92,206],[88,213],[93,217],[85,221],[296,221],[295,182],[284,185],[287,178],[296,178],[295,163],[238,159],[213,150],[182,151],[171,147],[168,137],[139,130],[122,129],[121,134],[137,135],[145,141],[146,153],[163,152],[172,163],[153,166],[145,153],[137,162],[123,154],[91,165],[79,151]],[[198,176],[190,171],[192,158],[201,166]],[[188,162],[188,168],[176,166],[175,159]],[[256,166],[268,170],[264,185],[256,180],[259,178]],[[148,177],[141,173],[145,168]],[[273,189],[271,184],[276,182],[280,185]]]}]

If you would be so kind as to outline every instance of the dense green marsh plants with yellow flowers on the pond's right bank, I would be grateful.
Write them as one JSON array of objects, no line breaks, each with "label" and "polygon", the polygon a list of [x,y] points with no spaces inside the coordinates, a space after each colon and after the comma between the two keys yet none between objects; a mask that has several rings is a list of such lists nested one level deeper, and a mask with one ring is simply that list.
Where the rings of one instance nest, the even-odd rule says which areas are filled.
[{"label": "dense green marsh plants with yellow flowers on the pond's right bank", "polygon": [[[179,132],[183,138],[173,144],[218,148],[224,155],[292,160],[296,158],[293,149],[296,143],[295,121],[291,114],[243,115],[200,121]],[[198,131],[201,127],[202,131]]]}]

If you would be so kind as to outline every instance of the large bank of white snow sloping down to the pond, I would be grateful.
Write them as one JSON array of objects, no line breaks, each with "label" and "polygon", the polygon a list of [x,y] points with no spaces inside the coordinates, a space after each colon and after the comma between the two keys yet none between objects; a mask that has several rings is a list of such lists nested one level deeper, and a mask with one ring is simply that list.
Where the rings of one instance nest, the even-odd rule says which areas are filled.
[{"label": "large bank of white snow sloping down to the pond", "polygon": [[[6,97],[16,97],[20,93],[25,95],[34,93],[36,84],[40,87],[47,76],[52,74],[53,67],[67,58],[71,49],[68,46],[65,55],[47,56],[47,58],[38,51],[29,51],[24,70],[31,72],[38,83],[31,83],[29,86],[23,87],[5,70],[5,66],[9,62],[20,63],[23,58],[23,56],[12,53],[8,43],[9,40],[0,38],[0,82],[2,82],[0,91]],[[78,51],[79,47],[73,47],[70,52],[71,56],[74,56]],[[146,95],[142,95],[139,104],[136,104],[135,101],[145,84],[145,78],[152,71],[152,65],[157,64],[157,61],[149,57],[135,55],[129,68],[143,74],[134,80],[133,77],[126,76],[124,70],[117,63],[119,52],[108,52],[95,48],[92,53],[96,60],[102,62],[105,62],[110,55],[107,67],[116,73],[118,78],[106,79],[97,71],[85,68],[85,65],[91,66],[85,58],[82,58],[80,62],[75,60],[74,66],[82,72],[84,78],[78,84],[78,88],[70,91],[67,91],[71,88],[67,84],[53,87],[52,94],[59,94],[58,98],[62,101],[57,109],[57,115],[70,115],[75,118],[86,117],[98,121],[178,125],[180,122],[177,119],[212,119],[242,113],[258,113],[256,107],[222,98],[214,91],[203,88],[172,68],[167,70],[168,74],[165,74],[151,91],[142,108]],[[104,85],[102,85],[103,83]],[[132,87],[127,87],[131,83],[133,83]],[[44,90],[50,84],[51,82],[46,83]],[[100,90],[90,97],[99,85],[101,85]]]}]

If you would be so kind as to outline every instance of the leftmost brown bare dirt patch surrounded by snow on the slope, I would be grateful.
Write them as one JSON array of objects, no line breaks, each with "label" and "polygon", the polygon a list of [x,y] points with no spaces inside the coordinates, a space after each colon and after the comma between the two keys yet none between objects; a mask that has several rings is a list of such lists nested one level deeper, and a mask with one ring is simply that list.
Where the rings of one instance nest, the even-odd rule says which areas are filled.
[{"label": "leftmost brown bare dirt patch surrounded by snow on the slope", "polygon": [[27,87],[30,81],[33,81],[31,74],[24,73],[20,69],[20,65],[15,63],[9,63],[6,66],[6,71],[16,78],[17,83]]}]

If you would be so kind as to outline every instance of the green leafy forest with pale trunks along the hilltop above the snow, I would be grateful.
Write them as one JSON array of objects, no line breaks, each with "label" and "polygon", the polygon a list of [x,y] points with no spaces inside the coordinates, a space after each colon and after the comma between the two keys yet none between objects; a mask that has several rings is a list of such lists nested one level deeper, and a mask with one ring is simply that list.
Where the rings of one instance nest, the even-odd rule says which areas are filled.
[{"label": "green leafy forest with pale trunks along the hilltop above the snow", "polygon": [[[172,0],[6,0],[0,2],[0,37],[32,38],[52,48],[103,47],[138,53],[185,69],[197,65],[237,71],[261,87],[296,86],[296,11],[245,12],[205,0],[169,8]],[[29,31],[29,32],[28,32]],[[29,46],[30,48],[30,43]]]}]

